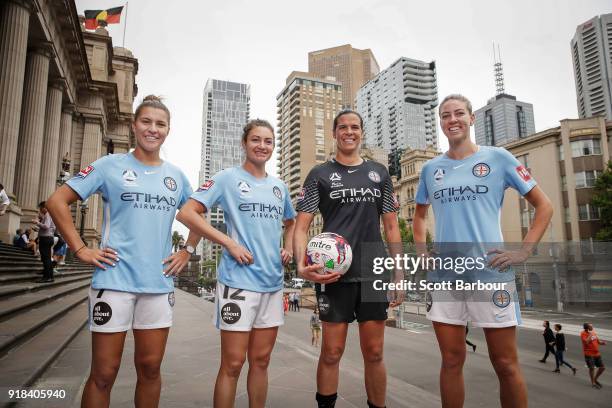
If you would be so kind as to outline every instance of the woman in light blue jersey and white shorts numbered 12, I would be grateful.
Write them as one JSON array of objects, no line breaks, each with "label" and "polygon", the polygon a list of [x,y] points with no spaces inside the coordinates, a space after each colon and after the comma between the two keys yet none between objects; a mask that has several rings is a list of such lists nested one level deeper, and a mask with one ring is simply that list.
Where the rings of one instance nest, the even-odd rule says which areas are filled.
[{"label": "woman in light blue jersey and white shorts numbered 12", "polygon": [[[246,156],[242,166],[207,180],[177,216],[190,230],[225,249],[215,298],[215,325],[221,331],[215,407],[234,405],[247,358],[249,406],[265,405],[268,363],[278,326],[283,324],[283,265],[292,259],[295,211],[285,184],[265,168],[274,151],[272,126],[264,120],[250,121],[242,147]],[[223,210],[227,234],[202,217],[204,212],[214,214],[216,207]]]}]

